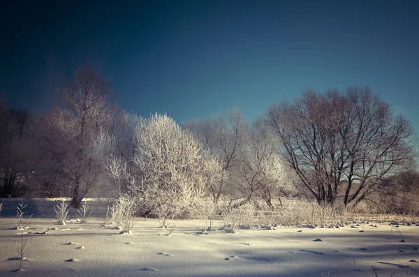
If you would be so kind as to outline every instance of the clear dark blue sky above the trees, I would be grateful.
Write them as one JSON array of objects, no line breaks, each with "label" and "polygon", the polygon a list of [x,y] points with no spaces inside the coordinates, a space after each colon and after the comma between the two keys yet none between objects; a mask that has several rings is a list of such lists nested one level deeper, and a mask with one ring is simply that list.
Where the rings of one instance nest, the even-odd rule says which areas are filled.
[{"label": "clear dark blue sky above the trees", "polygon": [[88,62],[145,116],[252,120],[306,87],[369,85],[419,131],[417,1],[83,2],[1,1],[8,105],[47,110]]}]

